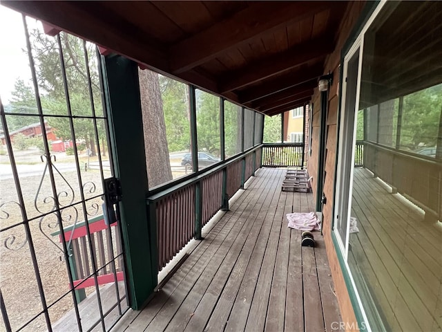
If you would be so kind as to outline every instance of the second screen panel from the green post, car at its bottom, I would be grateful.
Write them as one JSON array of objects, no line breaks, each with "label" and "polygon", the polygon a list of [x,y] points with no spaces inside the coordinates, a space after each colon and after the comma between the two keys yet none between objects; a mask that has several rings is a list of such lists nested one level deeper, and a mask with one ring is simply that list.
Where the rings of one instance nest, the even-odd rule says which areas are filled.
[{"label": "second screen panel from the green post, car at its bottom", "polygon": [[199,89],[195,98],[198,168],[203,169],[220,161],[220,98]]}]

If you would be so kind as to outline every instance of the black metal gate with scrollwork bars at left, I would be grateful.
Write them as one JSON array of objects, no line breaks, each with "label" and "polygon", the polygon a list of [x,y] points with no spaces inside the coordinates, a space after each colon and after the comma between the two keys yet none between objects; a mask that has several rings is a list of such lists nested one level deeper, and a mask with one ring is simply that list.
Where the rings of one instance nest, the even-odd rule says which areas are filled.
[{"label": "black metal gate with scrollwork bars at left", "polygon": [[8,11],[30,77],[0,99],[0,330],[108,331],[128,301],[101,58]]}]

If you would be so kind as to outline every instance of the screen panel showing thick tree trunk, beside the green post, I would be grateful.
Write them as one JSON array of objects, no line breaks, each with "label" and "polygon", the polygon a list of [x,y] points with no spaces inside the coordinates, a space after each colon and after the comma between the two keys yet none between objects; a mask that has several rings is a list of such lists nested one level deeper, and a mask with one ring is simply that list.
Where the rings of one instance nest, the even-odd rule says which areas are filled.
[{"label": "screen panel showing thick tree trunk, beside the green post", "polygon": [[149,188],[192,172],[189,86],[140,70],[144,147]]}]

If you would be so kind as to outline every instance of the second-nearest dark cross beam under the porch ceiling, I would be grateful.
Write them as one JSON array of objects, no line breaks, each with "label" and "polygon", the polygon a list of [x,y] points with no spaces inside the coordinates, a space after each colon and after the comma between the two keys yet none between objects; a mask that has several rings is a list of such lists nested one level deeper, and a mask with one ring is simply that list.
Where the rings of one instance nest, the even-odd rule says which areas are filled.
[{"label": "second-nearest dark cross beam under the porch ceiling", "polygon": [[239,71],[227,73],[220,82],[220,92],[243,88],[260,80],[291,70],[314,59],[323,59],[334,49],[330,38],[315,39],[300,44],[285,53],[278,53],[267,59],[258,60],[241,68]]}]

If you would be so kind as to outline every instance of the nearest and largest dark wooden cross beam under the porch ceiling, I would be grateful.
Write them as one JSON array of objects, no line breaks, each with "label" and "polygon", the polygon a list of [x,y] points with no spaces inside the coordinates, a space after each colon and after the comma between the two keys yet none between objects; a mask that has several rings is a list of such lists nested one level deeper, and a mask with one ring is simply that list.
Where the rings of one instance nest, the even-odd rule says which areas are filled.
[{"label": "nearest and largest dark wooden cross beam under the porch ceiling", "polygon": [[327,1],[256,1],[248,5],[248,8],[224,21],[171,46],[169,58],[172,73],[188,71],[229,48],[333,6]]}]

